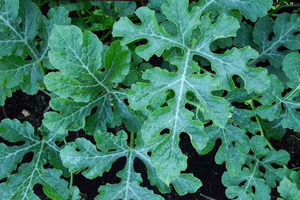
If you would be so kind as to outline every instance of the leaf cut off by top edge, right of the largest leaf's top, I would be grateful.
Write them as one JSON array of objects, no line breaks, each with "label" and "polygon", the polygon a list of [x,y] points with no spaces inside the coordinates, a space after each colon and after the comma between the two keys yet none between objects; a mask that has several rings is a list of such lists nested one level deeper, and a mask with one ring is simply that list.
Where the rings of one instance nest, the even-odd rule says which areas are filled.
[{"label": "leaf cut off by top edge, right of the largest leaf's top", "polygon": [[209,1],[200,0],[198,3],[193,3],[201,8],[202,13],[212,12],[217,14],[225,13],[227,16],[233,16],[232,9],[238,9],[246,19],[250,19],[255,22],[258,17],[265,16],[268,10],[271,9],[273,1],[271,0],[224,0],[224,1]]}]

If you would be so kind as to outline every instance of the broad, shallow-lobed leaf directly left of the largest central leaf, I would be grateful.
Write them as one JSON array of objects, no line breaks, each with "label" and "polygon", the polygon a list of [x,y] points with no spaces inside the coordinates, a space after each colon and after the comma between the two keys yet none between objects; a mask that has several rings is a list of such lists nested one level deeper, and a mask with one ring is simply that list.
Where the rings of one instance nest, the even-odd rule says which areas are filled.
[{"label": "broad, shallow-lobed leaf directly left of the largest central leaf", "polygon": [[[106,124],[114,127],[114,124],[121,125],[124,120],[129,131],[140,130],[143,119],[124,103],[128,90],[113,89],[116,87],[113,83],[122,82],[129,70],[131,57],[126,46],[121,46],[119,40],[113,42],[106,50],[102,63],[101,41],[89,31],[82,35],[76,26],[55,26],[49,44],[52,49],[49,52],[50,61],[60,72],[47,74],[45,85],[63,97],[50,101],[52,109],[63,112],[47,112],[43,121],[46,127],[57,132],[66,128],[74,131],[84,128],[93,135],[97,130],[106,131]],[[105,70],[101,72],[103,66]],[[110,98],[113,98],[114,114]],[[96,106],[96,112],[85,120]],[[135,123],[128,123],[131,119]]]}]

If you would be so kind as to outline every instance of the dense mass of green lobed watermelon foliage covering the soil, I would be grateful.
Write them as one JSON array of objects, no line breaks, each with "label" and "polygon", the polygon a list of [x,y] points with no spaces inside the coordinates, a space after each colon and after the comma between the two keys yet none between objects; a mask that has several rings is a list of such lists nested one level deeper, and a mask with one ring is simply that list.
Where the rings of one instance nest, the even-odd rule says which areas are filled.
[{"label": "dense mass of green lobed watermelon foliage covering the soil", "polygon": [[[215,162],[226,163],[229,199],[271,199],[271,188],[300,199],[299,168],[288,169],[289,153],[268,142],[286,129],[300,132],[299,9],[277,14],[284,6],[270,0],[151,0],[137,9],[133,1],[52,1],[44,16],[45,3],[0,0],[0,104],[16,90],[42,90],[54,110],[39,130],[1,121],[3,139],[23,141],[0,143],[2,199],[39,199],[36,183],[52,199],[80,199],[62,176],[83,171],[93,179],[120,157],[121,182],[99,187],[95,199],[163,199],[140,186],[135,158],[161,193],[170,184],[179,195],[194,193],[202,183],[182,173],[183,132],[199,154],[222,140]],[[147,62],[153,55],[161,66]],[[125,130],[107,132],[122,122]],[[84,138],[58,145],[80,129],[96,145]],[[17,167],[27,152],[31,162]]]}]

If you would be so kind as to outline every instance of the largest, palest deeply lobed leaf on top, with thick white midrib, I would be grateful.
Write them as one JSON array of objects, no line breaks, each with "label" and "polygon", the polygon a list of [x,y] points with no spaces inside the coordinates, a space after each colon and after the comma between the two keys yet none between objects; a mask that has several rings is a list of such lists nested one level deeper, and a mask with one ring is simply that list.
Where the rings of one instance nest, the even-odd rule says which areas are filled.
[{"label": "largest, palest deeply lobed leaf on top, with thick white midrib", "polygon": [[[221,97],[211,95],[211,91],[220,90],[220,84],[222,89],[233,90],[235,87],[231,78],[233,74],[238,74],[244,79],[248,92],[254,89],[264,90],[269,80],[266,70],[260,68],[253,71],[245,65],[249,58],[257,56],[257,53],[249,47],[234,48],[223,55],[210,51],[209,46],[213,40],[235,35],[239,27],[235,18],[222,14],[217,22],[211,24],[208,17],[202,16],[200,23],[200,8],[195,6],[191,12],[188,12],[187,1],[183,0],[169,1],[168,4],[162,5],[161,9],[167,19],[176,24],[177,36],[168,34],[163,27],[159,26],[154,11],[147,7],[138,8],[135,12],[141,19],[142,25],[137,26],[129,19],[121,18],[115,23],[112,34],[124,37],[121,44],[140,38],[147,39],[146,45],[136,48],[137,54],[146,60],[153,54],[160,56],[165,49],[171,47],[180,48],[184,52],[184,55],[181,54],[182,57],[176,57],[171,61],[171,64],[178,67],[176,73],[159,68],[146,70],[142,77],[150,79],[151,82],[132,85],[133,92],[128,96],[133,109],[145,110],[146,106],[151,104],[159,94],[169,89],[175,91],[175,97],[168,102],[168,106],[154,111],[142,128],[146,143],[154,142],[156,136],[164,128],[170,130],[170,134],[153,151],[151,157],[152,164],[158,166],[159,177],[169,184],[173,178],[179,176],[181,170],[186,168],[187,158],[182,155],[178,147],[179,134],[188,133],[193,146],[199,150],[205,146],[207,139],[202,132],[203,125],[192,121],[192,113],[184,108],[187,91],[196,94],[205,119],[211,119],[215,125],[224,127],[230,116],[227,109],[228,103]],[[199,28],[197,28],[198,25]],[[202,35],[196,33],[202,33]],[[193,62],[193,55],[208,59],[212,69],[216,71],[217,79],[210,77],[207,73],[199,74],[200,69]],[[193,74],[194,72],[196,74]]]}]

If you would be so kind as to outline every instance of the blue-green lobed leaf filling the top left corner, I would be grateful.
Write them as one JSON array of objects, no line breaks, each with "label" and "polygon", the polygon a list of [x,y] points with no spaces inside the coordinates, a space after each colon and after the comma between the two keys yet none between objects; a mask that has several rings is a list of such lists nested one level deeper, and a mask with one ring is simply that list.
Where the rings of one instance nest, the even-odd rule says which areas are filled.
[{"label": "blue-green lobed leaf filling the top left corner", "polygon": [[[44,82],[42,62],[51,68],[48,61],[50,31],[54,23],[70,23],[68,13],[63,8],[50,9],[46,19],[32,1],[0,1],[0,4],[0,56],[4,56],[0,59],[0,83],[9,88],[6,90],[18,86],[27,94],[36,94],[38,83]],[[39,47],[33,41],[38,29],[42,39]]]}]

